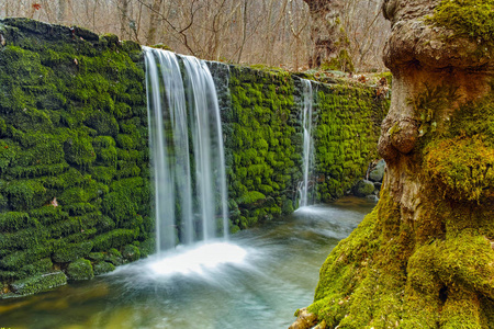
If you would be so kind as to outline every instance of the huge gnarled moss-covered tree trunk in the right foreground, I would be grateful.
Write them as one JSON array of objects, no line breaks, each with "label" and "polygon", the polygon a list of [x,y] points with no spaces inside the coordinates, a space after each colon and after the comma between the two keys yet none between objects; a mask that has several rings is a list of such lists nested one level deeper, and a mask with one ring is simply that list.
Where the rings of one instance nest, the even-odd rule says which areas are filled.
[{"label": "huge gnarled moss-covered tree trunk in the right foreground", "polygon": [[494,43],[445,10],[481,20],[485,8],[438,3],[384,1],[386,173],[375,209],[321,270],[308,311],[325,328],[494,328]]}]

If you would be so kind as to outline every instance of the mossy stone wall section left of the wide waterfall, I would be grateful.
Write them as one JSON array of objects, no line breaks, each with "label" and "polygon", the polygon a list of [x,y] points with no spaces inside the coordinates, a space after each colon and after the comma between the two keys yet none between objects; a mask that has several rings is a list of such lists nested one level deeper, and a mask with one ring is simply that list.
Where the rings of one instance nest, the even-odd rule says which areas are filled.
[{"label": "mossy stone wall section left of the wide waterfall", "polygon": [[35,293],[64,283],[41,274],[149,252],[139,45],[29,20],[0,32],[0,281]]}]

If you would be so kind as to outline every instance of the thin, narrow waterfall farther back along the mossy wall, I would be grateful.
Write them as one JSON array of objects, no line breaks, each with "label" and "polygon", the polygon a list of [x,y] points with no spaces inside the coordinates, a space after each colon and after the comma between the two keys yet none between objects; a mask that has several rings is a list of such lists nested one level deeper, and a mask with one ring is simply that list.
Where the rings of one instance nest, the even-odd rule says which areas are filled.
[{"label": "thin, narrow waterfall farther back along the mossy wall", "polygon": [[312,140],[312,105],[313,105],[313,94],[311,81],[306,79],[301,79],[303,86],[303,112],[302,112],[302,125],[303,125],[303,182],[300,186],[300,207],[305,207],[310,205],[308,201],[308,181],[312,175],[313,169],[313,154],[314,145]]}]

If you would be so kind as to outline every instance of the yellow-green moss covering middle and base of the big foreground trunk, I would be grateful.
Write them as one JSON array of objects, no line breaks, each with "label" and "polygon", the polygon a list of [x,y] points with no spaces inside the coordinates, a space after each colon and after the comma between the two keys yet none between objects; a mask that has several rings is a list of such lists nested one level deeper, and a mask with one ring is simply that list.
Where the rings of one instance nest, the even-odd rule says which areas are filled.
[{"label": "yellow-green moss covering middle and base of the big foreground trunk", "polygon": [[310,307],[329,327],[492,327],[493,95],[451,113],[454,99],[442,86],[426,87],[412,103],[423,125],[442,121],[413,155],[422,203],[412,219],[382,191],[329,254]]}]

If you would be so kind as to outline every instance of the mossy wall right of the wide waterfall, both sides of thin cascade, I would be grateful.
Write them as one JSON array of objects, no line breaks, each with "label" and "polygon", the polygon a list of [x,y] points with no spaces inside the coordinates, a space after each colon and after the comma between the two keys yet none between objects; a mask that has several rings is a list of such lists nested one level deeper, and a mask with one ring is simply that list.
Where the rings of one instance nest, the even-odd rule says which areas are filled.
[{"label": "mossy wall right of the wide waterfall, both sides of thin cascade", "polygon": [[[213,68],[213,75],[216,71]],[[364,177],[377,158],[389,100],[361,83],[312,84],[315,168],[311,180],[317,203],[343,196]],[[229,67],[228,86],[231,111],[224,111],[223,126],[235,231],[297,207],[303,180],[303,87],[301,78],[283,70],[238,66]]]}]

